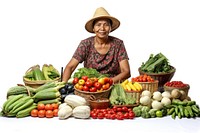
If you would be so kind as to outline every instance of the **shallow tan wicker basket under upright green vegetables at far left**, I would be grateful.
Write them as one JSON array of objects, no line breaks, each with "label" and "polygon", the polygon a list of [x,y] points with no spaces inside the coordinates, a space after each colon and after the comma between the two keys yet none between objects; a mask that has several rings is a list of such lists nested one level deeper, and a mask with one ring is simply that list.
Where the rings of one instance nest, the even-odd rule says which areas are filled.
[{"label": "shallow tan wicker basket under upright green vegetables at far left", "polygon": [[60,77],[56,78],[54,80],[39,80],[39,81],[28,81],[25,78],[23,78],[24,84],[26,86],[30,86],[30,87],[35,88],[35,89],[38,88],[39,86],[47,83],[47,82],[50,82],[50,81],[60,81],[60,80],[61,80]]}]

